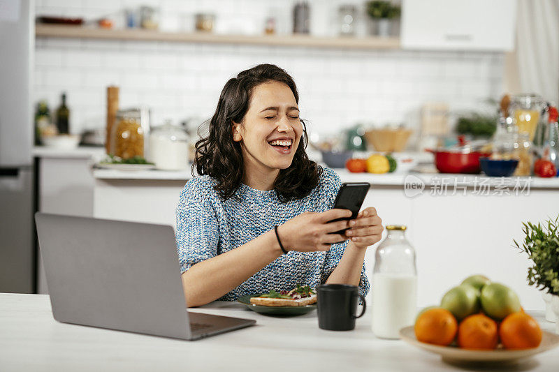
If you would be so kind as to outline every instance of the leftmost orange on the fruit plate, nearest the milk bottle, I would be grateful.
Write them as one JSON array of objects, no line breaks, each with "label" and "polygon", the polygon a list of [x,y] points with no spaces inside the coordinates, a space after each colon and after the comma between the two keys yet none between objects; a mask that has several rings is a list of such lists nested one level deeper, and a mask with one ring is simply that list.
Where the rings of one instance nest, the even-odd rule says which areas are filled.
[{"label": "leftmost orange on the fruit plate, nearest the milk bottle", "polygon": [[452,313],[444,308],[430,308],[417,317],[415,336],[421,342],[450,345],[456,337],[458,323]]}]

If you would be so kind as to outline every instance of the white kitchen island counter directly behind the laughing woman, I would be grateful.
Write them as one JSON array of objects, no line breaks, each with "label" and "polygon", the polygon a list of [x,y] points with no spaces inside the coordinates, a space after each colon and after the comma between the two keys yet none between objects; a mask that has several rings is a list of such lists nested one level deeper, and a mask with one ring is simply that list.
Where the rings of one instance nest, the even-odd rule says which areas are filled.
[{"label": "white kitchen island counter directly behind the laughing woman", "polygon": [[[425,181],[420,195],[405,193],[407,174],[351,174],[335,170],[342,182],[372,184],[363,207],[375,207],[383,224],[404,224],[417,253],[419,306],[438,304],[444,292],[471,274],[486,274],[506,283],[521,297],[524,308],[542,310],[541,294],[526,283],[530,261],[513,248],[521,241],[523,221],[544,221],[557,215],[559,179],[532,179],[527,195],[474,195],[458,190],[433,193],[441,174],[418,174]],[[445,175],[462,180],[464,175]],[[94,216],[175,226],[175,207],[184,172],[117,172],[95,170]],[[469,178],[468,178],[469,177]],[[473,182],[476,176],[467,176]],[[498,184],[498,179],[477,176]],[[495,186],[493,186],[495,187]],[[375,248],[365,255],[368,274]],[[370,295],[369,295],[370,297]]]}]

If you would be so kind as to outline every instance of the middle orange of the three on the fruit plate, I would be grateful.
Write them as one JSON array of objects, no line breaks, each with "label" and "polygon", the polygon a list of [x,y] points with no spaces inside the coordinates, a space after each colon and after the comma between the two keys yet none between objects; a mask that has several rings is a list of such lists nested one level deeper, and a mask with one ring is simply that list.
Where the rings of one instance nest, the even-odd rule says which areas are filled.
[{"label": "middle orange of the three on the fruit plate", "polygon": [[484,314],[470,315],[458,326],[460,348],[495,349],[498,342],[497,323]]}]

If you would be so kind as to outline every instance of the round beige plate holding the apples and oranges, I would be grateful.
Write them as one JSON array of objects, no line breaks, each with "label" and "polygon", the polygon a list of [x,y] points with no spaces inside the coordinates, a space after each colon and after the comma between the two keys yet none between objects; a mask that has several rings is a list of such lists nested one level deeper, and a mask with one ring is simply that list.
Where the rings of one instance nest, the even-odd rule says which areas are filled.
[{"label": "round beige plate holding the apples and oranges", "polygon": [[456,346],[440,346],[430,343],[417,341],[414,327],[400,329],[400,337],[403,341],[417,346],[428,352],[435,352],[440,355],[445,362],[451,364],[471,364],[471,363],[514,363],[521,359],[532,357],[546,350],[556,348],[559,345],[559,336],[551,332],[542,332],[542,343],[537,348],[525,350],[465,350]]}]

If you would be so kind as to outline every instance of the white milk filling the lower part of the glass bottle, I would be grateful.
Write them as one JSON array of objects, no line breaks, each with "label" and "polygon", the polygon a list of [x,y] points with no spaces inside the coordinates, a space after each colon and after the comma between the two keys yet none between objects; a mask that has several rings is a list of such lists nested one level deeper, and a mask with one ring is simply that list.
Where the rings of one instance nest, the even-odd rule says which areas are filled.
[{"label": "white milk filling the lower part of the glass bottle", "polygon": [[402,327],[416,315],[417,277],[405,274],[372,275],[372,332],[380,338],[400,338]]}]

